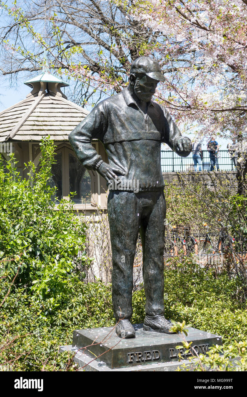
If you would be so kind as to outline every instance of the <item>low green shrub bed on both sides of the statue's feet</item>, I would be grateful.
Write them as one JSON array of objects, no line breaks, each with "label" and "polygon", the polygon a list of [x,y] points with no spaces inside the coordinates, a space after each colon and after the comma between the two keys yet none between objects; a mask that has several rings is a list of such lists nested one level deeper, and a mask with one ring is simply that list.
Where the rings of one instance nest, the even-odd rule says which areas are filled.
[{"label": "low green shrub bed on both sides of the statue's feet", "polygon": [[[6,280],[0,300],[9,287],[10,282]],[[186,259],[177,269],[165,269],[165,316],[218,333],[225,345],[246,340],[246,305],[239,303],[236,294],[240,287],[237,279],[229,281],[224,274],[215,279],[213,274],[193,264],[192,259]],[[58,355],[59,345],[71,343],[73,330],[115,324],[111,285],[69,279],[67,291],[69,293],[61,294],[61,304],[55,306],[50,305],[48,299],[38,302],[34,299],[35,291],[12,286],[2,306],[1,339],[6,341],[17,335],[27,335],[15,340],[15,349],[10,345],[2,351],[2,363],[12,358],[15,369],[63,369],[67,356]],[[143,322],[144,289],[133,293],[132,304],[132,322]],[[14,352],[23,354],[18,361]]]}]

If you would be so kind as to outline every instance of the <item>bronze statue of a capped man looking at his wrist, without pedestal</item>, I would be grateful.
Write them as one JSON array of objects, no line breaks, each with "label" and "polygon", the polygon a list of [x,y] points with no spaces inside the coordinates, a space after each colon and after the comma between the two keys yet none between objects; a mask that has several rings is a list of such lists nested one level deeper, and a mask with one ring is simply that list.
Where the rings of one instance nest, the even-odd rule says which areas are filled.
[{"label": "bronze statue of a capped man looking at his wrist, without pedestal", "polygon": [[[109,187],[107,211],[112,248],[112,301],[119,337],[135,337],[132,316],[133,263],[140,233],[146,295],[144,330],[170,333],[164,317],[164,233],[166,204],[161,143],[180,156],[191,152],[167,110],[151,100],[165,78],[158,62],[137,58],[129,85],[94,107],[71,132],[69,142],[82,165],[97,170]],[[99,139],[106,164],[91,145]]]}]

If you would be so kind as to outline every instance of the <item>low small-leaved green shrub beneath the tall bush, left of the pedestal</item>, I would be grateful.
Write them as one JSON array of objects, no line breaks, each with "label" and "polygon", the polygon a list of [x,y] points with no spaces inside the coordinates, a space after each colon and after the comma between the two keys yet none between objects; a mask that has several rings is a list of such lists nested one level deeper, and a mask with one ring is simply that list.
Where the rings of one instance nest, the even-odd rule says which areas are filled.
[{"label": "low small-leaved green shrub beneath the tall bush, left of the pedestal", "polygon": [[[0,301],[10,282],[6,280],[2,287]],[[64,370],[68,354],[59,354],[59,346],[72,343],[73,330],[115,323],[111,287],[101,282],[85,284],[78,278],[75,282],[68,279],[59,306],[50,298],[40,303],[32,293],[13,285],[2,305],[0,368],[8,365],[13,370]]]}]

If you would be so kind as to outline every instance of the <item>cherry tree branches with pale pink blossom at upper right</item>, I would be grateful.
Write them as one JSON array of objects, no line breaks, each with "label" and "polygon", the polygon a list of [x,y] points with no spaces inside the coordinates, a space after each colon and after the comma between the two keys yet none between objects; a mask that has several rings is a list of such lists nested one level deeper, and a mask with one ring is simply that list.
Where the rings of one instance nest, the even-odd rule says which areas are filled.
[{"label": "cherry tree branches with pale pink blossom at upper right", "polygon": [[157,34],[157,100],[204,135],[246,135],[247,0],[137,0],[128,17]]}]

